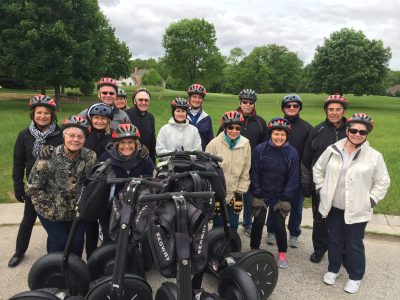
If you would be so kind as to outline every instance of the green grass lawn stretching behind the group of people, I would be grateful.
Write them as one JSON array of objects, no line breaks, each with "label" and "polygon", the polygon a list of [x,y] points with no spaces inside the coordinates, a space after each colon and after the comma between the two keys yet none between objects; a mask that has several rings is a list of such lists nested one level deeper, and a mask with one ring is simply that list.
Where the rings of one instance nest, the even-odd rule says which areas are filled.
[{"label": "green grass lawn stretching behind the group of people", "polygon": [[[132,87],[124,87],[131,96]],[[149,88],[152,92],[150,111],[156,118],[156,130],[158,131],[171,116],[170,102],[176,96],[186,96],[184,91],[162,90],[160,88]],[[11,90],[0,90],[0,202],[16,201],[13,196],[11,179],[12,153],[18,132],[29,125],[28,98],[25,94],[37,93],[34,91],[23,91],[24,97],[12,95]],[[257,100],[257,113],[267,122],[277,116],[281,116],[280,101],[284,94],[263,94]],[[324,120],[325,115],[322,108],[326,95],[300,94],[303,99],[302,118],[317,125]],[[391,178],[391,186],[384,201],[381,201],[375,212],[400,215],[400,164],[398,153],[400,149],[399,138],[399,112],[400,99],[385,96],[362,96],[345,95],[349,100],[349,109],[346,115],[355,112],[365,112],[372,116],[375,128],[368,137],[372,147],[380,151],[386,161]],[[130,98],[131,99],[131,98]],[[58,112],[59,121],[65,117],[75,114],[96,102],[96,95],[80,97],[75,100],[62,102],[62,110]],[[131,103],[131,101],[129,101]],[[228,94],[207,94],[204,101],[204,109],[211,116],[216,132],[219,127],[221,115],[228,110],[236,109],[238,98]]]}]

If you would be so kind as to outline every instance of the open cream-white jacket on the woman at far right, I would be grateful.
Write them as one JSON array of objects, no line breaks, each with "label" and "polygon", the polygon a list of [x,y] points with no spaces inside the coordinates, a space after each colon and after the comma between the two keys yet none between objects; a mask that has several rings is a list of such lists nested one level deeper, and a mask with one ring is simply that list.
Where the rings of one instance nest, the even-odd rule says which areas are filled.
[{"label": "open cream-white jacket on the woman at far right", "polygon": [[[327,217],[332,208],[333,196],[341,174],[342,149],[347,142],[344,138],[328,147],[313,167],[316,190],[319,190],[319,212]],[[390,178],[382,154],[365,141],[350,162],[345,178],[346,224],[368,222],[373,209],[370,199],[375,203],[382,200],[390,185]]]}]

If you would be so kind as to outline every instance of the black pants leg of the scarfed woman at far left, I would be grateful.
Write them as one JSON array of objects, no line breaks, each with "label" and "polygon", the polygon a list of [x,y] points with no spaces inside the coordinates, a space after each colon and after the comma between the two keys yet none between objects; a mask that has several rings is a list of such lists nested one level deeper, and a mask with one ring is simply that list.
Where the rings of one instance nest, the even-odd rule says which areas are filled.
[{"label": "black pants leg of the scarfed woman at far left", "polygon": [[32,235],[33,225],[36,221],[36,211],[33,207],[32,201],[29,197],[25,199],[24,216],[22,217],[21,224],[19,225],[17,243],[15,246],[15,254],[21,256],[25,254],[29,246],[29,241]]}]

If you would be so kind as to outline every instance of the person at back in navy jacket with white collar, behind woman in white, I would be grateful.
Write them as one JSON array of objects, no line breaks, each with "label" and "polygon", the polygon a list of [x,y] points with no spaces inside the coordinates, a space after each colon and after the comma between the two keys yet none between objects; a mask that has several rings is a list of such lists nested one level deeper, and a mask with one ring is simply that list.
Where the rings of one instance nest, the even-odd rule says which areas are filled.
[{"label": "person at back in navy jacket with white collar, behind woman in white", "polygon": [[206,89],[201,84],[194,83],[189,86],[189,122],[197,127],[201,137],[201,148],[204,150],[207,144],[214,138],[212,122],[210,116],[203,110],[203,100],[207,94]]}]

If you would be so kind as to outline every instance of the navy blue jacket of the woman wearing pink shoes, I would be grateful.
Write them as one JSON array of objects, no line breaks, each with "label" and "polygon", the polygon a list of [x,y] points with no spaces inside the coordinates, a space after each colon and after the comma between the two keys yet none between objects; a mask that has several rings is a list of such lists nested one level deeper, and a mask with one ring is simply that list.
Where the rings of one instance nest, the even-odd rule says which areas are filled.
[{"label": "navy blue jacket of the woman wearing pink shoes", "polygon": [[299,156],[289,143],[277,148],[268,141],[253,151],[250,193],[267,205],[290,200],[299,188],[299,178]]}]

